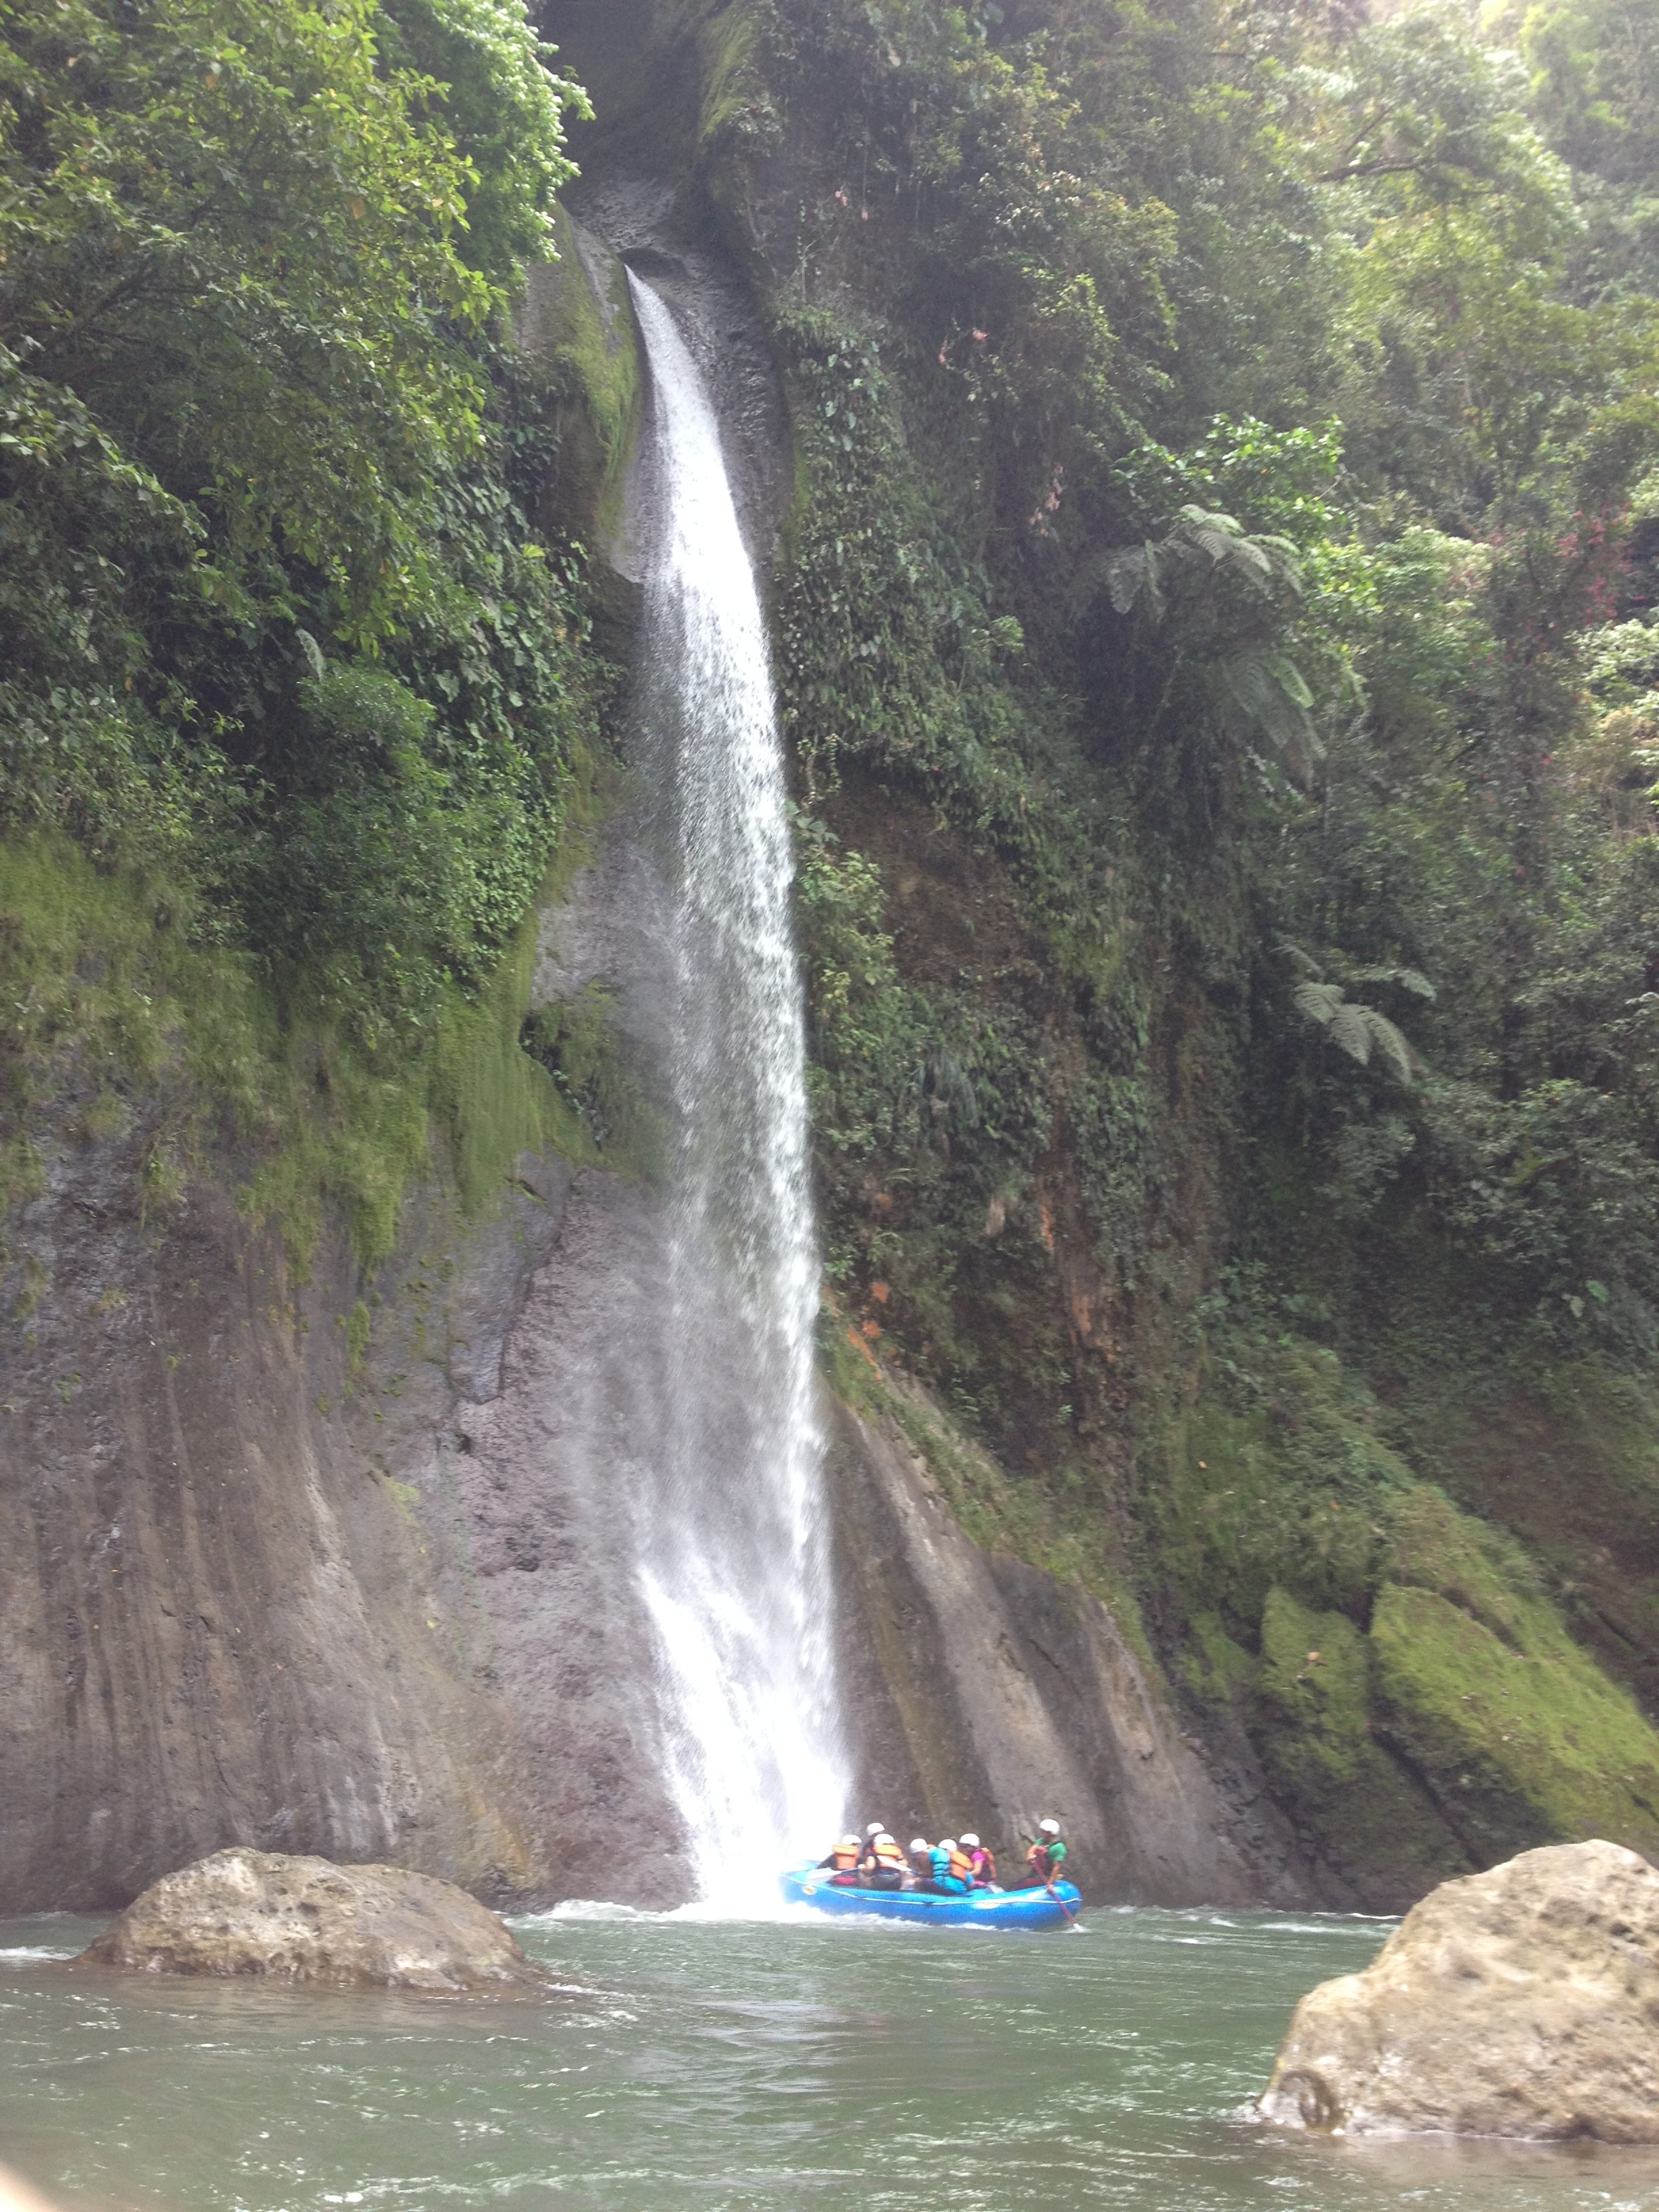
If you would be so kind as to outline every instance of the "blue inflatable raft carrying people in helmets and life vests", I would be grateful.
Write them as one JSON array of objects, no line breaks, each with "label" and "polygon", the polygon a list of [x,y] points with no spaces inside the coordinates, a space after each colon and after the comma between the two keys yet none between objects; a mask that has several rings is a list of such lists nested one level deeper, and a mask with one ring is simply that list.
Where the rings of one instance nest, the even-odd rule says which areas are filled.
[{"label": "blue inflatable raft carrying people in helmets and life vests", "polygon": [[847,1832],[821,1860],[781,1876],[790,1905],[878,1920],[931,1920],[947,1927],[1077,1927],[1075,1885],[1064,1876],[1066,1845],[1055,1818],[1042,1818],[1026,1851],[1026,1876],[998,1887],[995,1856],[973,1829],[902,1851],[880,1820]]}]

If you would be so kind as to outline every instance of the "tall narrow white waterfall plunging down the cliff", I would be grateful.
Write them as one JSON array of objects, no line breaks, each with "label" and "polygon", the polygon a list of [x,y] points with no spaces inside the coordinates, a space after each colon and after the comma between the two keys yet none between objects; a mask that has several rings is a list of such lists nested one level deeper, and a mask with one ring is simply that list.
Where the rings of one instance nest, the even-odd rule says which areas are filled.
[{"label": "tall narrow white waterfall plunging down the cliff", "polygon": [[805,1031],[765,622],[714,409],[661,299],[650,363],[641,723],[666,794],[670,1168],[635,1489],[670,1796],[710,1902],[752,1905],[845,1816]]}]

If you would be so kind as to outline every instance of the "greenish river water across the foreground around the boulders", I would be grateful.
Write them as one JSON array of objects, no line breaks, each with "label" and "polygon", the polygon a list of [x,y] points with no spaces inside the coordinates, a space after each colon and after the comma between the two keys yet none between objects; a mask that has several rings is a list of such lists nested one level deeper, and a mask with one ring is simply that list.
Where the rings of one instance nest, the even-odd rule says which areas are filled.
[{"label": "greenish river water across the foreground around the boulders", "polygon": [[1307,2143],[1248,2101],[1376,1922],[1082,1933],[560,1916],[546,2000],[66,1975],[0,1922],[0,2159],[170,2212],[1659,2212],[1659,2159]]}]

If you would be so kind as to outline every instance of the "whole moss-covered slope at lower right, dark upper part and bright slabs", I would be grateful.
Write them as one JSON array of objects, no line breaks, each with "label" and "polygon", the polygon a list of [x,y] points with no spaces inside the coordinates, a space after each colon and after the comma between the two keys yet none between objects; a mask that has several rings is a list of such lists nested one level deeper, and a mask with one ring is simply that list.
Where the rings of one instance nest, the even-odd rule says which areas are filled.
[{"label": "whole moss-covered slope at lower right, dark upper part and bright slabs", "polygon": [[1659,1847],[1659,1736],[1537,1564],[1425,1484],[1325,1347],[1223,1334],[1148,1495],[1181,1674],[1378,1905],[1509,1851]]}]

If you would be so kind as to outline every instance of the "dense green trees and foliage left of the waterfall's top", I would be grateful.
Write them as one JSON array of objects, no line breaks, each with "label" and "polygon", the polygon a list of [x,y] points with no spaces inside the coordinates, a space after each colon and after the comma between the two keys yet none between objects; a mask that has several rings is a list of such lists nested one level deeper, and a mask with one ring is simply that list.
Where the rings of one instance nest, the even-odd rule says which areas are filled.
[{"label": "dense green trees and foliage left of the waterfall's top", "polygon": [[511,0],[0,11],[0,830],[416,1128],[593,719],[507,345],[580,102]]}]

